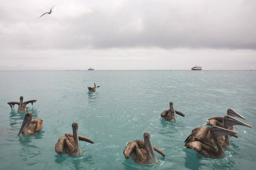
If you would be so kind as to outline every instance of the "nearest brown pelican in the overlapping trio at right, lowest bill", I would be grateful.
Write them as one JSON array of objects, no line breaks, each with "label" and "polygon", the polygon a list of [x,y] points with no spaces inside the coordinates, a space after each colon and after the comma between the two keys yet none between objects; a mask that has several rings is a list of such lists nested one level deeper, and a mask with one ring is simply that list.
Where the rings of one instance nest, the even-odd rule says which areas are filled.
[{"label": "nearest brown pelican in the overlapping trio at right, lowest bill", "polygon": [[194,149],[198,154],[205,156],[207,158],[220,158],[225,154],[225,152],[217,140],[218,136],[231,135],[236,138],[238,137],[237,131],[230,131],[228,129],[218,127],[218,126],[210,127],[210,132],[212,134],[212,138],[216,143],[218,150],[216,150],[216,148],[213,145],[207,142],[201,141],[197,138],[195,138],[194,142],[187,143],[185,146],[183,146],[183,148]]}]

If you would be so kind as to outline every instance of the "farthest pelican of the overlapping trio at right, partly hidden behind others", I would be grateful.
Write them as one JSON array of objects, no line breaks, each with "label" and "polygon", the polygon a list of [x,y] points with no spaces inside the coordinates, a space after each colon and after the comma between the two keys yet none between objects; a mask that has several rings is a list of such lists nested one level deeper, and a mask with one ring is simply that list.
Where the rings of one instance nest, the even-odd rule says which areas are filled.
[{"label": "farthest pelican of the overlapping trio at right, partly hidden behind others", "polygon": [[[232,116],[232,117],[239,117],[241,119],[246,120],[245,117],[243,117],[242,115],[240,115],[239,113],[237,113],[236,111],[234,111],[233,109],[230,109],[230,108],[227,109],[227,115]],[[208,124],[210,126],[224,127],[223,117],[221,117],[221,116],[212,117],[206,121],[206,124]],[[230,130],[234,131],[235,130],[234,126],[231,126]]]}]

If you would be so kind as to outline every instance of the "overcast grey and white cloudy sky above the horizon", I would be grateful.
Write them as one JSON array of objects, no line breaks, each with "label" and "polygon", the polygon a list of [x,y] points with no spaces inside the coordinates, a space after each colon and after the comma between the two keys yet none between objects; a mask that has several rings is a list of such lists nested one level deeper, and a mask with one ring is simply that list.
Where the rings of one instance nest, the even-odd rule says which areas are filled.
[{"label": "overcast grey and white cloudy sky above the horizon", "polygon": [[256,70],[256,0],[0,4],[0,70]]}]

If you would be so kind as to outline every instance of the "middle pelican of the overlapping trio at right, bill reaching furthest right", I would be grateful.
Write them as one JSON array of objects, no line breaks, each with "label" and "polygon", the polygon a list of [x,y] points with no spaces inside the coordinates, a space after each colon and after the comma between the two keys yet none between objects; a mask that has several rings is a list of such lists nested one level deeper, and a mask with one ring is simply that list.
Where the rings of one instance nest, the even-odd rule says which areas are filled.
[{"label": "middle pelican of the overlapping trio at right, bill reaching furthest right", "polygon": [[[225,129],[230,129],[229,127],[233,126],[233,125],[241,125],[241,126],[246,126],[246,127],[250,127],[250,128],[252,127],[252,125],[246,124],[246,123],[244,123],[240,120],[237,120],[234,117],[231,117],[229,115],[224,116],[223,120],[224,120],[224,128]],[[210,132],[210,127],[201,126],[201,127],[197,127],[195,129],[193,129],[191,134],[185,140],[185,142],[186,142],[185,145],[189,142],[194,142],[195,138],[197,138],[197,140],[201,140],[201,141],[210,143],[211,145],[216,145],[216,143],[214,142],[214,140],[212,138],[212,135]],[[219,136],[217,138],[217,140],[223,148],[231,147],[231,143],[230,143],[228,135],[225,136],[225,139],[222,136]]]}]

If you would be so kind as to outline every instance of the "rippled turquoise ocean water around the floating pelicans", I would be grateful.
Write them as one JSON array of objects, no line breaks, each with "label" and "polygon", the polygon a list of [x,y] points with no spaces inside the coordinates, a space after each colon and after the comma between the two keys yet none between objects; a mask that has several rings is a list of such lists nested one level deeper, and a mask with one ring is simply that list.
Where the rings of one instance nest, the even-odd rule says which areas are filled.
[{"label": "rippled turquoise ocean water around the floating pelicans", "polygon": [[[88,92],[93,83],[97,92]],[[0,169],[1,170],[130,170],[130,169],[255,169],[256,71],[0,71]],[[33,118],[44,120],[36,135],[18,135],[26,113],[11,109],[9,101],[37,99],[28,104]],[[185,117],[176,122],[160,117],[174,103]],[[208,118],[224,116],[232,108],[254,127],[237,126],[238,138],[225,155],[210,159],[183,149],[191,130]],[[71,124],[81,142],[80,157],[58,155],[55,143]],[[159,166],[139,165],[125,159],[126,142],[151,135]]]}]

